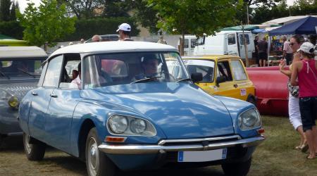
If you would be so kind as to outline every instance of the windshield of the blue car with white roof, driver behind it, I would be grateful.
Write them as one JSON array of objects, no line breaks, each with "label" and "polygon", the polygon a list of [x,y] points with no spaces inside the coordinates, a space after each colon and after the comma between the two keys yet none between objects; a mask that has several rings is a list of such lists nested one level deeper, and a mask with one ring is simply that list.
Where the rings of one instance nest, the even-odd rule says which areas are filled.
[{"label": "windshield of the blue car with white roof, driver behind it", "polygon": [[[167,63],[179,65],[178,75]],[[187,77],[181,59],[175,52],[133,52],[98,54],[84,59],[85,88],[141,82],[177,82]]]}]

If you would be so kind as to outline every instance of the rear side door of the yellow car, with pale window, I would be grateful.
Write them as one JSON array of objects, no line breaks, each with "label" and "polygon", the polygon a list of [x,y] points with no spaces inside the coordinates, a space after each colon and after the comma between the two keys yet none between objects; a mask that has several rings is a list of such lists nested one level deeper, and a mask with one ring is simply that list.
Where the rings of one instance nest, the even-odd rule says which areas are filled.
[{"label": "rear side door of the yellow car, with pale window", "polygon": [[254,95],[254,85],[249,80],[244,65],[240,59],[231,59],[230,65],[233,73],[233,79],[238,90],[238,99],[247,101],[249,94]]}]

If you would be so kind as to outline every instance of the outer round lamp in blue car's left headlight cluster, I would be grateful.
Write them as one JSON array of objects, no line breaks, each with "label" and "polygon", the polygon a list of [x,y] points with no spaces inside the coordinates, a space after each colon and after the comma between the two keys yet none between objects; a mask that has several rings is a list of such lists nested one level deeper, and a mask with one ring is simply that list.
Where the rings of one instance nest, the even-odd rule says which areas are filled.
[{"label": "outer round lamp in blue car's left headlight cluster", "polygon": [[113,115],[108,121],[109,128],[116,134],[121,134],[128,129],[128,119],[122,115]]}]

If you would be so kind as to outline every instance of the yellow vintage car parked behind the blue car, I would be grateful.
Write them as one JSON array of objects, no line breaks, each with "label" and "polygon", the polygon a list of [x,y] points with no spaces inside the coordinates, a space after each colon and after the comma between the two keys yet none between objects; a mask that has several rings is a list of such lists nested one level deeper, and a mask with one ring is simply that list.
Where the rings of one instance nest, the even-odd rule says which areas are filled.
[{"label": "yellow vintage car parked behind the blue car", "polygon": [[209,94],[256,103],[254,84],[249,80],[240,57],[211,55],[185,56],[182,59],[189,75],[202,73],[203,80],[197,85]]}]

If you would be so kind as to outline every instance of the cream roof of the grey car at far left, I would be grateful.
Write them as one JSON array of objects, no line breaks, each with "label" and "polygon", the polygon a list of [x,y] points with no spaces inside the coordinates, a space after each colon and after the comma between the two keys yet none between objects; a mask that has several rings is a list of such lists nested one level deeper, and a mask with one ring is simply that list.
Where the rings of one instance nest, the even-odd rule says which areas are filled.
[{"label": "cream roof of the grey car at far left", "polygon": [[47,54],[37,46],[1,46],[1,58],[47,58]]}]

